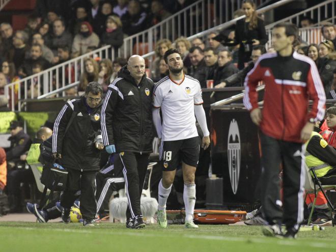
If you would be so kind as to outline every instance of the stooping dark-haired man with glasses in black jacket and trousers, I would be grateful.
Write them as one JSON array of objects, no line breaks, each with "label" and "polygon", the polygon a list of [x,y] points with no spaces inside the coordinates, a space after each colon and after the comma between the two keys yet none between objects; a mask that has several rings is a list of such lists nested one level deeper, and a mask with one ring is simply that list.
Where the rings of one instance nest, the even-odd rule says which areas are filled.
[{"label": "stooping dark-haired man with glasses in black jacket and trousers", "polygon": [[52,152],[69,172],[67,186],[61,196],[62,220],[65,223],[70,222],[70,208],[78,197],[76,192],[80,190],[83,225],[94,225],[97,211],[95,174],[100,168],[100,150],[104,148],[102,141],[99,142],[102,93],[98,82],[90,82],[85,96],[67,102],[54,123]]}]

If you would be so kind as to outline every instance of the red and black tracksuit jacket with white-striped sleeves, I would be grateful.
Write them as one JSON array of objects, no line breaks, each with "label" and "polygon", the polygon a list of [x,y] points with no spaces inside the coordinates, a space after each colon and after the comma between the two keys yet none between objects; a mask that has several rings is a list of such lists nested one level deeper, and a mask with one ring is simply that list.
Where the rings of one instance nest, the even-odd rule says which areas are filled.
[{"label": "red and black tracksuit jacket with white-striped sleeves", "polygon": [[[279,140],[301,143],[306,122],[324,118],[325,93],[315,63],[295,51],[288,57],[276,52],[261,55],[245,78],[243,100],[248,110],[258,107],[259,81],[265,83],[261,131]],[[313,106],[308,113],[309,100]]]}]

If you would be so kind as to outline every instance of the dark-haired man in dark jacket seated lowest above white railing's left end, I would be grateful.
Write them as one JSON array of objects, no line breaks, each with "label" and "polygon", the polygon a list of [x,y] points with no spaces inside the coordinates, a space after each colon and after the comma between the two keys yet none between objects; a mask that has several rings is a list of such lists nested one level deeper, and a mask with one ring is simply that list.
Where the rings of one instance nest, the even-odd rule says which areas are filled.
[{"label": "dark-haired man in dark jacket seated lowest above white railing's left end", "polygon": [[43,69],[50,67],[50,63],[42,57],[42,47],[39,44],[33,44],[31,47],[31,57],[22,63],[22,70],[25,76],[33,74],[33,65],[39,63]]}]

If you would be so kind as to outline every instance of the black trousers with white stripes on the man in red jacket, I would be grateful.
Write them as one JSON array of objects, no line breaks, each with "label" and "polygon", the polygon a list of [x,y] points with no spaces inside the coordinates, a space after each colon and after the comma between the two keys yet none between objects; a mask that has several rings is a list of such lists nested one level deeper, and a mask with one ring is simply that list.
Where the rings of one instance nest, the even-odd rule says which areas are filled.
[{"label": "black trousers with white stripes on the man in red jacket", "polygon": [[[302,144],[285,142],[261,133],[261,202],[263,215],[270,225],[285,223],[297,231],[303,220],[305,178]],[[283,164],[284,206],[281,210],[279,172]]]}]

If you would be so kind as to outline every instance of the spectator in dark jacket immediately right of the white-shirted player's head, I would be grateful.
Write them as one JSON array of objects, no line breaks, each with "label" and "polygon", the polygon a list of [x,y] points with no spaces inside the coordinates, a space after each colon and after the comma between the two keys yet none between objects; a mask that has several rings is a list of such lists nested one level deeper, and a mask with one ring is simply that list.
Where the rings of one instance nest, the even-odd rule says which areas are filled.
[{"label": "spectator in dark jacket immediately right of the white-shirted player's head", "polygon": [[199,80],[201,87],[206,88],[206,64],[204,61],[204,51],[200,47],[191,47],[189,49],[189,57],[191,66],[188,68],[188,75]]}]

